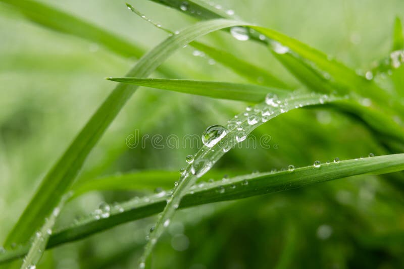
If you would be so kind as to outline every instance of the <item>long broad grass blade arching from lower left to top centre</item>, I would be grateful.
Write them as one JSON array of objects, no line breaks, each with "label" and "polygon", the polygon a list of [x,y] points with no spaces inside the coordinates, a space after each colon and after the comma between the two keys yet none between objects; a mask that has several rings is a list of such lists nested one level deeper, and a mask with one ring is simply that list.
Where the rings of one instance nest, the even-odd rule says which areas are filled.
[{"label": "long broad grass blade arching from lower left to top centre", "polygon": [[[146,77],[172,53],[193,39],[239,24],[235,21],[214,20],[188,27],[181,33],[170,36],[146,53],[127,76]],[[25,243],[34,231],[43,224],[44,218],[49,215],[59,203],[62,195],[70,188],[92,147],[136,89],[137,86],[135,85],[118,84],[103,104],[99,106],[62,157],[42,180],[18,223],[7,237],[6,246],[10,246],[12,243]]]}]

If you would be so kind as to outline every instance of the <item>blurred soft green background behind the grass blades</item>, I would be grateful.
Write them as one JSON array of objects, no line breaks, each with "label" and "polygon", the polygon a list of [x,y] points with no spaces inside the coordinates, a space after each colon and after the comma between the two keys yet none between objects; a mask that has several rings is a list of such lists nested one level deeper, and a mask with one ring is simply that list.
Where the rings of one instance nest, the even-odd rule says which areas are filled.
[{"label": "blurred soft green background behind the grass blades", "polygon": [[[150,49],[167,34],[129,12],[125,1],[47,1],[54,7]],[[141,12],[176,30],[195,20],[148,1]],[[245,21],[266,26],[366,70],[388,55],[394,17],[402,1],[217,1]],[[46,171],[63,153],[96,107],[115,86],[104,78],[123,76],[135,63],[86,40],[34,24],[0,3],[0,241],[18,220]],[[203,38],[261,66],[288,85],[299,83],[262,46],[226,33]],[[245,82],[185,47],[167,66],[178,78]],[[155,74],[152,77],[161,77]],[[173,170],[196,148],[129,149],[125,139],[140,134],[201,134],[225,125],[245,103],[140,88],[90,154],[79,179],[117,172]],[[387,153],[366,127],[329,109],[282,115],[257,129],[270,134],[271,148],[236,148],[214,170],[230,175],[271,171]],[[209,173],[207,174],[209,178]],[[404,264],[402,190],[386,178],[361,176],[239,201],[181,210],[154,253],[155,268],[399,268]],[[158,186],[156,186],[158,187]],[[58,226],[114,202],[145,192],[91,192],[70,202]],[[47,251],[38,267],[133,267],[155,218]],[[7,266],[7,265],[6,265]]]}]

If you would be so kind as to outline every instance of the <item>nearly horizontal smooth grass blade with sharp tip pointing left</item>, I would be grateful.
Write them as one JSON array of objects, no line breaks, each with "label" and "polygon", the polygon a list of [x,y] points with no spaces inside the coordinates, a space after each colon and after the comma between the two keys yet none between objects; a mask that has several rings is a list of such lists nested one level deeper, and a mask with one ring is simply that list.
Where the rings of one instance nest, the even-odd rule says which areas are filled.
[{"label": "nearly horizontal smooth grass blade with sharp tip pointing left", "polygon": [[286,95],[290,91],[277,88],[269,88],[253,84],[239,84],[216,81],[197,81],[183,79],[158,79],[158,78],[108,78],[108,80],[130,83],[138,86],[171,90],[201,96],[209,96],[219,99],[241,100],[247,102],[259,102],[269,92],[277,95]]}]

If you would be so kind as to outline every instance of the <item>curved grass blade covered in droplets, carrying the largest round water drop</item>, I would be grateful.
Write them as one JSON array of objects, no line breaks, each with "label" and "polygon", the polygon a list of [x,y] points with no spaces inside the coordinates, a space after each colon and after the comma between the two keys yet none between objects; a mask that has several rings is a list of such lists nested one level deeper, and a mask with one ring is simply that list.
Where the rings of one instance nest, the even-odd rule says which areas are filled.
[{"label": "curved grass blade covered in droplets, carrying the largest round water drop", "polygon": [[227,131],[223,131],[222,136],[216,138],[215,144],[211,146],[205,145],[199,149],[195,154],[193,163],[186,167],[183,176],[181,176],[178,181],[178,185],[167,199],[166,207],[162,214],[159,215],[155,230],[153,233],[150,233],[150,238],[140,258],[139,267],[144,268],[146,262],[148,262],[151,251],[159,237],[170,224],[170,219],[173,217],[175,210],[178,208],[188,188],[192,186],[199,177],[208,172],[227,151],[233,148],[237,143],[246,139],[247,135],[252,132],[252,130],[280,114],[302,106],[317,105],[335,100],[337,100],[337,98],[318,94],[291,94],[287,98],[278,99],[276,95],[272,94],[271,98],[267,99],[266,97],[265,102],[257,104],[254,108],[251,107],[249,111],[252,112],[243,112],[230,120],[230,122],[233,121],[234,124],[229,124],[228,129],[226,129]]}]

